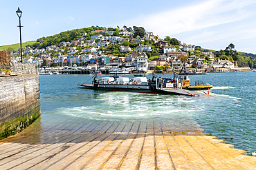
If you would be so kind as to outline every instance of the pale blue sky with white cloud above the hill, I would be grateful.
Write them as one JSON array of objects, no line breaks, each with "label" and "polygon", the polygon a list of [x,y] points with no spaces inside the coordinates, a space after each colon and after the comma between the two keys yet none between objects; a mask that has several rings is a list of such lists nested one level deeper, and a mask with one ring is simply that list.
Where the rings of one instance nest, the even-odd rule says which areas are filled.
[{"label": "pale blue sky with white cloud above the hill", "polygon": [[19,43],[19,7],[22,42],[92,25],[136,25],[161,39],[210,50],[233,43],[239,52],[256,54],[255,0],[1,0],[0,6],[0,46]]}]

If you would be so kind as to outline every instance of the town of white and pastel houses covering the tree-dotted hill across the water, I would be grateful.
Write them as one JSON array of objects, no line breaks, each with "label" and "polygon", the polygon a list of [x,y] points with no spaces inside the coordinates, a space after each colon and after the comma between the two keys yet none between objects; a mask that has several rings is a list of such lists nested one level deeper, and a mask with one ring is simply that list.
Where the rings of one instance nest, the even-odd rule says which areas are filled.
[{"label": "town of white and pastel houses covering the tree-dotted hill across the water", "polygon": [[[78,36],[79,34],[77,34]],[[37,40],[42,44],[44,38]],[[231,51],[234,49],[230,44]],[[228,48],[227,47],[227,48]],[[89,70],[113,70],[127,68],[130,71],[148,70],[215,70],[231,71],[237,67],[232,57],[216,58],[200,46],[181,43],[165,36],[159,39],[144,28],[90,30],[72,41],[40,47],[30,45],[22,48],[23,63],[37,67],[78,66]],[[21,61],[20,52],[10,52],[12,63]]]}]

